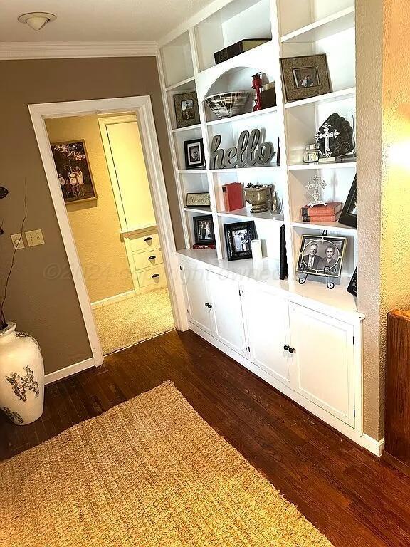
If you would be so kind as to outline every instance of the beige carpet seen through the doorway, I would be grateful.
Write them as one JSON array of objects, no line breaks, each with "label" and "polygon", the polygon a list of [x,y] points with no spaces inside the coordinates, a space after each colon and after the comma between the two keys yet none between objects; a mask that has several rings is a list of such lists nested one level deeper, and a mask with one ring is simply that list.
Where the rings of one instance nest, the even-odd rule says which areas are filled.
[{"label": "beige carpet seen through the doorway", "polygon": [[94,316],[104,355],[174,328],[166,287],[96,308]]}]

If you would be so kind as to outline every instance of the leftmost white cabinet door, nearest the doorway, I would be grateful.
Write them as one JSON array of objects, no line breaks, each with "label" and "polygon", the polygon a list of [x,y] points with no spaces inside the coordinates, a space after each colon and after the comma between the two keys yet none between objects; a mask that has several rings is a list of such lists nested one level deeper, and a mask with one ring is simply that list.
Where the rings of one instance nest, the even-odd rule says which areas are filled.
[{"label": "leftmost white cabinet door, nearest the doorway", "polygon": [[[185,298],[189,321],[206,333],[212,333],[211,303],[206,285],[207,271],[191,266],[182,266],[184,272]],[[207,306],[206,306],[207,305]]]}]

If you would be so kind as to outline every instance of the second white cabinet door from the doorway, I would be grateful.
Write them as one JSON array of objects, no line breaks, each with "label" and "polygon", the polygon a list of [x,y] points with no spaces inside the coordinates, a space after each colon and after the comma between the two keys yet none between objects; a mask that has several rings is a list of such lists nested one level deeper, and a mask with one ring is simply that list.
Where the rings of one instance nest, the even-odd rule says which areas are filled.
[{"label": "second white cabinet door from the doorway", "polygon": [[245,353],[239,283],[211,271],[207,273],[208,291],[211,297],[214,335],[238,353]]}]

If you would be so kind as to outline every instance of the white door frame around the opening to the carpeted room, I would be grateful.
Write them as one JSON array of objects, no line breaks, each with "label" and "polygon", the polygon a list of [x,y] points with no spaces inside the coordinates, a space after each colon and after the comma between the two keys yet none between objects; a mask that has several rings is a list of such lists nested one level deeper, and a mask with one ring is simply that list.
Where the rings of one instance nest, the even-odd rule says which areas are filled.
[{"label": "white door frame around the opening to the carpeted room", "polygon": [[77,247],[75,246],[73,232],[68,219],[67,208],[65,207],[60,182],[58,181],[56,165],[53,160],[50,140],[44,121],[46,118],[64,118],[79,115],[110,115],[113,113],[130,112],[137,115],[149,185],[153,197],[154,212],[157,218],[159,241],[164,256],[164,267],[167,275],[174,323],[178,330],[186,330],[184,296],[181,283],[179,282],[179,273],[177,272],[174,231],[172,228],[171,214],[169,212],[167,189],[165,187],[164,173],[162,172],[154,114],[152,112],[151,98],[149,95],[112,99],[76,100],[65,103],[43,103],[28,105],[28,110],[30,111],[41,159],[43,160],[48,187],[50,188],[58,225],[60,226],[61,236],[68,257],[68,263],[70,264],[70,270],[73,275],[81,312],[83,313],[85,328],[88,333],[88,340],[90,341],[95,366],[102,364],[104,356],[102,354],[100,338],[98,337],[97,328],[95,326],[91,302],[88,296],[87,286],[85,285]]}]

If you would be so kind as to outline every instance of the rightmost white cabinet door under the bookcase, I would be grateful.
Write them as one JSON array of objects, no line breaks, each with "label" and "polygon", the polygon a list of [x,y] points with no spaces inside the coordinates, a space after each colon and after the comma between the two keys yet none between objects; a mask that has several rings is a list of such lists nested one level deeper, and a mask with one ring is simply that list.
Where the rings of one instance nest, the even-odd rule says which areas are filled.
[{"label": "rightmost white cabinet door under the bookcase", "polygon": [[301,395],[354,426],[352,325],[289,303],[290,345]]}]

